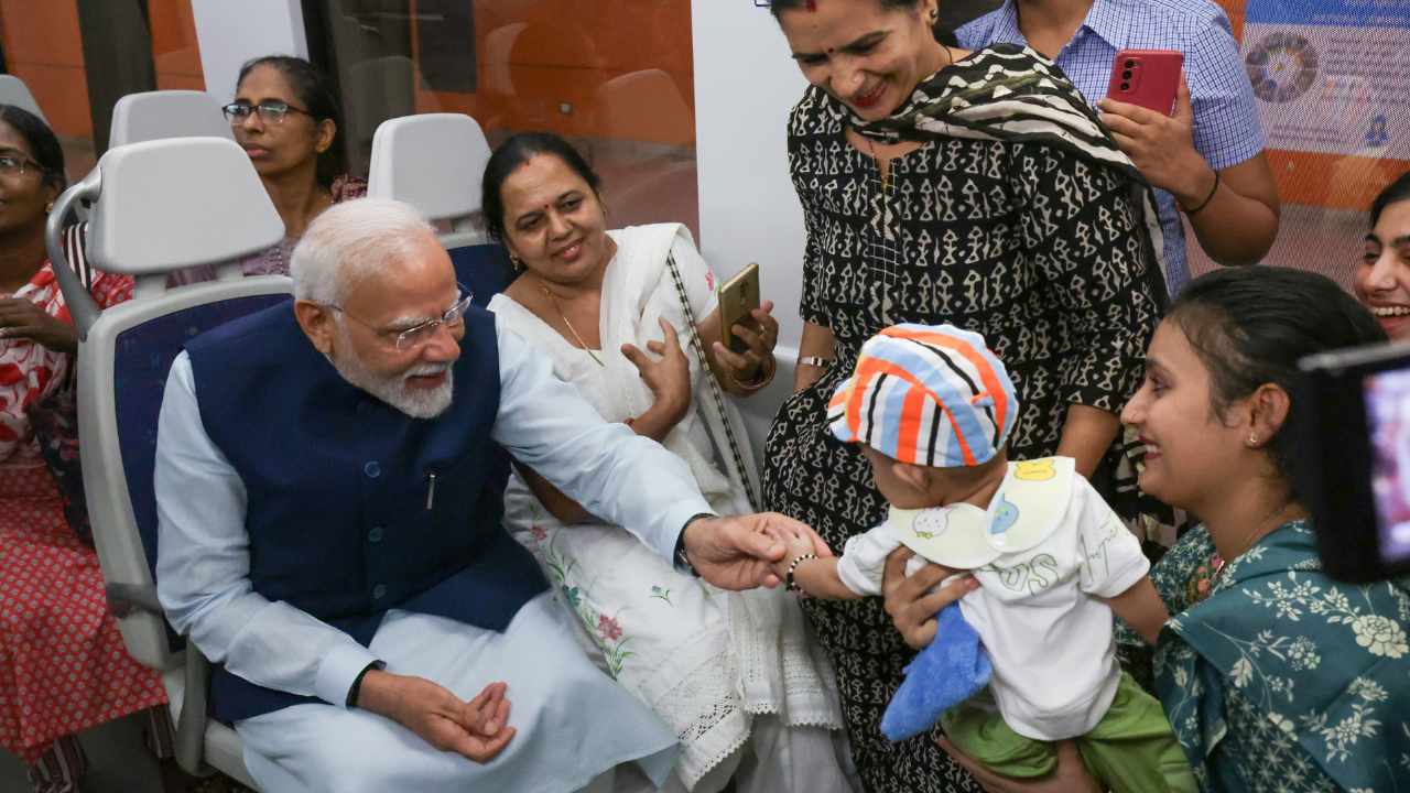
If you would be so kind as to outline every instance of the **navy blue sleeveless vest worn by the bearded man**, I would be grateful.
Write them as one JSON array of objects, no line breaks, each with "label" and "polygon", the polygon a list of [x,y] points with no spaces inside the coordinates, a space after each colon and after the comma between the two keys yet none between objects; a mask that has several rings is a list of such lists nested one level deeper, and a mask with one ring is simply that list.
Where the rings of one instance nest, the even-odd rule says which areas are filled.
[{"label": "navy blue sleeveless vest worn by the bearded man", "polygon": [[[465,315],[454,401],[429,420],[343,380],[292,301],[186,351],[206,433],[248,494],[250,581],[265,598],[367,646],[389,608],[502,631],[547,588],[501,525],[509,459],[491,439],[499,349],[489,312]],[[320,700],[217,666],[210,701],[216,718],[235,721]]]}]

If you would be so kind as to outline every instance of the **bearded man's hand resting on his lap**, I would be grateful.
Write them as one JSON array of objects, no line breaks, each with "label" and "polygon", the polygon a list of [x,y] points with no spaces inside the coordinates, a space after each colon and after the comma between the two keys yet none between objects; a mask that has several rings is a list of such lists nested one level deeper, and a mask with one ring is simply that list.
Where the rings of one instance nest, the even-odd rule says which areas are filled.
[{"label": "bearded man's hand resting on his lap", "polygon": [[371,670],[362,677],[357,707],[385,715],[441,752],[486,763],[515,737],[505,683],[491,683],[462,703],[424,677]]}]

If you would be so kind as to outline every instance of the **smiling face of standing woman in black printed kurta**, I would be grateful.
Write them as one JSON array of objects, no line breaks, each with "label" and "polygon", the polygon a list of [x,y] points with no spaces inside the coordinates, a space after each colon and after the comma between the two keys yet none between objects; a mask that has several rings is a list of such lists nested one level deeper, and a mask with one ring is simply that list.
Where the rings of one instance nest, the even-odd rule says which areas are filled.
[{"label": "smiling face of standing woman in black printed kurta", "polygon": [[808,82],[866,121],[890,116],[948,62],[931,31],[936,0],[914,8],[878,0],[814,0],[811,7],[778,17],[794,61]]}]

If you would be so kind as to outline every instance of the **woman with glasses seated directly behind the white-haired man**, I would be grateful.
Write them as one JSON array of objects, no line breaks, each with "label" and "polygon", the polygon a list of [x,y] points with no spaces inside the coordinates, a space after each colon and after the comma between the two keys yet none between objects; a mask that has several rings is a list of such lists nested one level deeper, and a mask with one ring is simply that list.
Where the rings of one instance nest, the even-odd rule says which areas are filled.
[{"label": "woman with glasses seated directly behind the white-haired man", "polygon": [[[224,111],[283,220],[283,240],[247,255],[241,268],[245,275],[288,275],[289,254],[309,223],[334,203],[367,195],[364,179],[338,175],[345,158],[337,100],[313,63],[266,55],[240,68],[235,100]],[[193,267],[171,281],[212,278],[210,267]]]}]

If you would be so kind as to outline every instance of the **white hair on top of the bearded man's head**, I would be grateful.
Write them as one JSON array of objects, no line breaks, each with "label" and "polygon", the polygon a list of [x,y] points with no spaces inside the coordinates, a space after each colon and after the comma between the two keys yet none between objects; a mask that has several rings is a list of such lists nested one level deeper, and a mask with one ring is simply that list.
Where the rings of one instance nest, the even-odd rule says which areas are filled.
[{"label": "white hair on top of the bearded man's head", "polygon": [[341,305],[358,281],[399,264],[436,230],[415,206],[392,199],[354,199],[309,224],[289,257],[293,296]]}]

